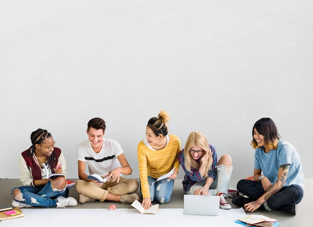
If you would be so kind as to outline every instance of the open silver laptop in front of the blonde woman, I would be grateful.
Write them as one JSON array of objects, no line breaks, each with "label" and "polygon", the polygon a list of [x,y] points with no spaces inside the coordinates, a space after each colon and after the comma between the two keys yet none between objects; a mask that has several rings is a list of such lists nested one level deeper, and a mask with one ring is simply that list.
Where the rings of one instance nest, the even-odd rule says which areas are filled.
[{"label": "open silver laptop in front of the blonde woman", "polygon": [[217,216],[219,214],[219,196],[184,194],[183,214]]}]

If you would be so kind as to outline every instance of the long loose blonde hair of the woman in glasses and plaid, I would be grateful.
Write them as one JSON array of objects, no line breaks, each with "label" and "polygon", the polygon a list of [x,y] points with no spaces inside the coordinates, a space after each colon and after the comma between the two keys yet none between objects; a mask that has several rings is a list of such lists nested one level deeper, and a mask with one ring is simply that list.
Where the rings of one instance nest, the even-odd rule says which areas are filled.
[{"label": "long loose blonde hair of the woman in glasses and plaid", "polygon": [[[196,162],[196,160],[194,160],[194,158],[192,157],[192,155],[190,154],[189,150],[190,148],[196,145],[198,147],[200,147],[203,150],[202,155],[199,157],[200,159],[200,164],[198,164]],[[184,160],[184,164],[185,164],[185,168],[191,172],[191,167],[193,169],[199,169],[200,165],[202,163],[201,158],[203,157],[203,155],[205,154],[206,150],[208,150],[208,143],[207,143],[207,139],[206,137],[201,133],[201,132],[197,132],[197,131],[192,131],[190,132],[187,141],[185,143],[185,146],[183,148],[183,154],[185,156],[185,160]],[[204,178],[207,178],[208,174],[207,172],[211,169],[211,165],[212,165],[212,155],[210,155],[208,157],[208,161],[207,164],[205,166],[205,172],[204,172]]]}]

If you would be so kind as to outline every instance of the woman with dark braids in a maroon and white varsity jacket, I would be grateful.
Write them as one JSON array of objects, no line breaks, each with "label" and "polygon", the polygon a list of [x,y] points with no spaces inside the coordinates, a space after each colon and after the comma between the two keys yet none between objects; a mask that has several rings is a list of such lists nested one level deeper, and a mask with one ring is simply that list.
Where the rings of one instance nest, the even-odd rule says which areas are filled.
[{"label": "woman with dark braids in a maroon and white varsity jacket", "polygon": [[[68,195],[66,163],[62,151],[54,147],[51,133],[38,128],[30,135],[31,146],[19,156],[22,186],[12,189],[14,207],[65,207],[77,204]],[[51,173],[63,175],[47,178]]]}]

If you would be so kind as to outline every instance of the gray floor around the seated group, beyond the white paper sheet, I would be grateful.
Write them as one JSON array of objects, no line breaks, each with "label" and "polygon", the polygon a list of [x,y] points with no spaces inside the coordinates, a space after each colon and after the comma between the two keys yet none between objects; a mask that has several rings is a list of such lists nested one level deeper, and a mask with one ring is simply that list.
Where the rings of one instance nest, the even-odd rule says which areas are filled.
[{"label": "gray floor around the seated group, beyond the white paper sheet", "polygon": [[[159,208],[183,208],[183,190],[182,190],[182,179],[176,179],[173,193],[171,196],[171,200],[166,204],[159,204]],[[235,188],[236,182],[238,179],[231,179],[230,187]],[[14,186],[19,185],[18,179],[0,179],[0,204],[10,204],[12,201],[11,198],[11,189]],[[283,212],[273,211],[267,212],[265,210],[256,210],[252,214],[263,214],[265,216],[270,216],[277,219],[280,222],[280,226],[311,226],[309,221],[309,215],[311,215],[310,211],[310,204],[313,204],[313,198],[310,196],[309,192],[312,191],[313,188],[313,179],[305,179],[304,185],[304,197],[302,201],[297,204],[297,212],[296,215],[290,215]],[[138,191],[136,192],[138,193]],[[78,200],[78,193],[75,191],[73,187],[69,188],[69,195],[76,198]],[[230,204],[231,198],[226,199]],[[105,202],[87,202],[87,203],[79,203],[73,207],[66,207],[66,208],[108,208],[110,204],[113,202],[105,201]],[[120,204],[114,203],[116,208],[132,208],[130,204]],[[30,207],[34,208],[34,207]],[[35,207],[38,208],[38,207]],[[232,208],[235,209],[234,205]],[[28,208],[27,208],[28,209]],[[249,212],[246,212],[249,213]]]}]

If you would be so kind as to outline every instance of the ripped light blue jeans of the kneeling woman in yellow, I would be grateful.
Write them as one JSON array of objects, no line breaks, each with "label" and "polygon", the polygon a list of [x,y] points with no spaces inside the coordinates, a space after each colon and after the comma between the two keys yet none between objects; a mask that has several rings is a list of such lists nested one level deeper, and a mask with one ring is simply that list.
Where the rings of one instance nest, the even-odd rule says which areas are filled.
[{"label": "ripped light blue jeans of the kneeling woman in yellow", "polygon": [[[174,180],[173,179],[161,179],[153,185],[156,178],[148,176],[148,184],[149,184],[149,191],[150,191],[150,199],[151,202],[153,199],[156,199],[160,203],[166,203],[170,200],[171,192],[173,191],[174,187]],[[140,186],[140,195],[142,199],[141,193],[141,186]]]}]

